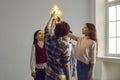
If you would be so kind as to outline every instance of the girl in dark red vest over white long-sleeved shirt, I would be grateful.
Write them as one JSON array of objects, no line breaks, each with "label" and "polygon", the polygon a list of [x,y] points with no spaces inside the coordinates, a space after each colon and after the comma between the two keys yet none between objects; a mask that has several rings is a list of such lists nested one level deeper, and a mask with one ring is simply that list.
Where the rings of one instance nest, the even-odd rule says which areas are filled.
[{"label": "girl in dark red vest over white long-sleeved shirt", "polygon": [[34,80],[45,80],[46,61],[47,56],[44,46],[44,33],[42,30],[37,30],[34,33],[30,58],[31,76]]}]

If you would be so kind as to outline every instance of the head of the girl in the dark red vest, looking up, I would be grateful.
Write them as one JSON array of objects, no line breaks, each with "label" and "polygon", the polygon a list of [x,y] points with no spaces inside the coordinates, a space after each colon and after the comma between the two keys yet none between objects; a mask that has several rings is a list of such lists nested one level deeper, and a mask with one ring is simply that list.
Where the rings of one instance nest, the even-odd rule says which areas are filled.
[{"label": "head of the girl in the dark red vest, looking up", "polygon": [[33,44],[36,44],[38,41],[43,41],[44,40],[44,33],[42,30],[37,30],[34,33],[34,42]]}]

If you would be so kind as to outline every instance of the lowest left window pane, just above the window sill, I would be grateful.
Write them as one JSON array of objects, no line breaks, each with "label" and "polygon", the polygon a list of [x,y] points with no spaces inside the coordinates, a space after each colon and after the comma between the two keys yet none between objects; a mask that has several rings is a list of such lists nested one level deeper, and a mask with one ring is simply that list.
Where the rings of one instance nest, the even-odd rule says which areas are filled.
[{"label": "lowest left window pane, just above the window sill", "polygon": [[109,38],[109,53],[116,54],[116,38]]}]

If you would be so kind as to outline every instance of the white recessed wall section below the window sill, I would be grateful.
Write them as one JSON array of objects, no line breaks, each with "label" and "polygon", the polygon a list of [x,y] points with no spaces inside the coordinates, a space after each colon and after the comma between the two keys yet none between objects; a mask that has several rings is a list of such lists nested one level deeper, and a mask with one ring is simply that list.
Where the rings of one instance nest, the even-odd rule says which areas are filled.
[{"label": "white recessed wall section below the window sill", "polygon": [[120,80],[120,58],[97,58],[95,73],[96,80]]}]

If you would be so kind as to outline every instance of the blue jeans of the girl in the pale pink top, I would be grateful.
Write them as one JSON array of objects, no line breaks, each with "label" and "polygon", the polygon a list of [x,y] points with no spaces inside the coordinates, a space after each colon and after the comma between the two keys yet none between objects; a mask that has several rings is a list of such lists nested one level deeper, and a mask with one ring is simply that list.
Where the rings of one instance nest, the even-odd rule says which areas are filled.
[{"label": "blue jeans of the girl in the pale pink top", "polygon": [[77,60],[77,77],[78,80],[89,80],[90,64],[85,64]]}]

